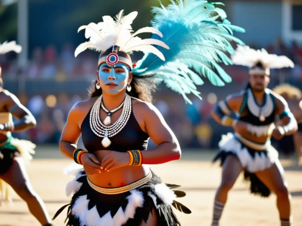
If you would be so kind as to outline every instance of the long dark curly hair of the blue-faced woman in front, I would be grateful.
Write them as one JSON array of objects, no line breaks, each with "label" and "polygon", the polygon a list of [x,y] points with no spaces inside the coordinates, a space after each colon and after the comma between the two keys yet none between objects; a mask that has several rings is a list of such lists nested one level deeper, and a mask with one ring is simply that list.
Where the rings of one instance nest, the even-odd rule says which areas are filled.
[{"label": "long dark curly hair of the blue-faced woman in front", "polygon": [[[120,51],[118,46],[114,46],[114,49],[118,50],[118,55],[120,57],[130,58],[130,55],[126,52]],[[102,52],[100,54],[99,58],[101,58],[102,56],[107,56],[111,52],[112,52],[112,47],[107,49],[105,52]],[[126,89],[126,93],[128,93],[130,96],[140,99],[142,101],[152,102],[151,92],[154,91],[156,88],[155,80],[152,77],[153,77],[153,75],[138,76],[133,73],[133,78],[130,83],[131,91],[128,92]],[[97,83],[97,80],[92,81],[92,84],[91,84],[90,88],[88,89],[88,96],[90,98],[95,97],[95,96],[101,96],[101,94],[102,94],[102,89],[97,89],[95,87],[96,83]]]}]

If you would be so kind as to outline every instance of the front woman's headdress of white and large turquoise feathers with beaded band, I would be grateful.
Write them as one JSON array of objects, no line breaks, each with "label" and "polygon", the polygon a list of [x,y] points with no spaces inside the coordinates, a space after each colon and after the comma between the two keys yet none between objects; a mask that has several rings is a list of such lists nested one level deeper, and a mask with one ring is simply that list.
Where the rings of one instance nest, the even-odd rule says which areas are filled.
[{"label": "front woman's headdress of white and large turquoise feathers with beaded band", "polygon": [[[135,33],[132,33],[131,24],[137,12],[123,16],[122,10],[116,18],[104,16],[103,22],[79,28],[79,31],[85,29],[89,41],[78,46],[75,56],[85,49],[104,52],[114,42],[123,52],[142,51],[145,55],[132,68],[133,76],[152,76],[157,83],[164,82],[186,102],[192,103],[186,95],[193,93],[201,99],[196,87],[204,83],[201,77],[210,80],[214,86],[224,86],[232,81],[219,63],[232,64],[226,55],[226,52],[234,52],[231,41],[244,45],[233,36],[233,31],[245,30],[231,25],[225,11],[216,8],[215,4],[223,5],[202,0],[171,0],[167,7],[153,8],[152,27],[141,28]],[[217,21],[218,18],[222,22]],[[152,37],[140,39],[136,36],[145,32],[153,33]],[[99,59],[99,64],[108,63],[108,60],[112,64],[122,62],[124,59],[115,53],[117,56],[112,52],[110,57]]]}]

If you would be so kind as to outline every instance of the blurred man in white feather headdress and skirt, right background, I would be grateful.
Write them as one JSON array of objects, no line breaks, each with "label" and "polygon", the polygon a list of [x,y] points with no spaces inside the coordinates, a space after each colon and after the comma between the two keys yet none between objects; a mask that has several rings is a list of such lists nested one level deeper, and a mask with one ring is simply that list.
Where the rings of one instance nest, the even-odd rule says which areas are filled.
[{"label": "blurred man in white feather headdress and skirt, right background", "polygon": [[[219,124],[231,126],[235,133],[222,136],[220,153],[222,181],[214,202],[212,226],[217,226],[226,203],[228,191],[241,171],[251,181],[251,193],[268,197],[277,195],[277,208],[281,226],[292,225],[290,194],[284,180],[284,170],[278,152],[271,146],[271,136],[280,140],[297,131],[297,121],[283,97],[268,89],[270,68],[294,67],[285,56],[269,55],[264,49],[254,50],[238,46],[232,55],[234,64],[249,67],[249,83],[241,93],[231,94],[220,101],[212,117]],[[236,119],[229,115],[235,112]],[[275,126],[279,115],[281,125]]]}]

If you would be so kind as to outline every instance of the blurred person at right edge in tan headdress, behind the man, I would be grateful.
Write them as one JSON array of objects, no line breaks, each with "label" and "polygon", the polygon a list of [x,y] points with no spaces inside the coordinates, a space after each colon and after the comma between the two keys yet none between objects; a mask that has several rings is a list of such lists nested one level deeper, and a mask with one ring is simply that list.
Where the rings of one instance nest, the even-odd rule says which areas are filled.
[{"label": "blurred person at right edge in tan headdress, behind the man", "polygon": [[282,84],[273,89],[281,95],[298,122],[298,131],[293,134],[294,146],[298,156],[298,165],[302,165],[302,92],[297,87]]}]

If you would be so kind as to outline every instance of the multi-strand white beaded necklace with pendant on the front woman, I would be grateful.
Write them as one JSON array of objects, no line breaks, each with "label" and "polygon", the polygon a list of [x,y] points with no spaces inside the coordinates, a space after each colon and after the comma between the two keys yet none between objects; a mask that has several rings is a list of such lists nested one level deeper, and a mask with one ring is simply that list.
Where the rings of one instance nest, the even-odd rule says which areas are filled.
[{"label": "multi-strand white beaded necklace with pendant on the front woman", "polygon": [[[102,103],[102,95],[95,101],[95,103],[92,106],[92,109],[90,111],[89,123],[90,123],[90,128],[95,135],[97,135],[98,137],[104,137],[101,143],[103,147],[107,148],[111,144],[109,137],[115,136],[127,124],[132,110],[132,100],[131,97],[128,94],[126,94],[126,97],[123,102],[123,110],[120,117],[117,119],[117,121],[115,121],[113,124],[109,126],[106,126],[101,122],[100,119],[101,103]],[[118,108],[120,108],[120,106]]]}]

